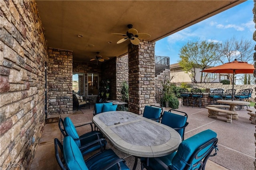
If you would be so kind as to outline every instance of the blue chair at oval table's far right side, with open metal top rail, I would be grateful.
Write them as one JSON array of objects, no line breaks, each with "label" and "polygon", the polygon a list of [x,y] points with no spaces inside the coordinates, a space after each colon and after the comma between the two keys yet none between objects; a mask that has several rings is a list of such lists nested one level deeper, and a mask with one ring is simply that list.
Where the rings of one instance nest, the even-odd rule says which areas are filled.
[{"label": "blue chair at oval table's far right side, with open metal top rail", "polygon": [[[179,113],[179,114],[176,114],[176,113]],[[185,128],[188,125],[187,119],[188,119],[187,113],[183,111],[170,109],[169,111],[164,111],[161,119],[161,123],[169,127],[172,127],[172,129],[175,129],[180,134],[181,139],[183,141]]]}]

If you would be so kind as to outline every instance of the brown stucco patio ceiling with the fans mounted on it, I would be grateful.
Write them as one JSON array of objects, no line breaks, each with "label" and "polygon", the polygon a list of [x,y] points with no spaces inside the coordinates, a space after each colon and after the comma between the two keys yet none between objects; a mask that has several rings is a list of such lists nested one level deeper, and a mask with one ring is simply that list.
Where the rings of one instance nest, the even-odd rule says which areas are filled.
[{"label": "brown stucco patio ceiling with the fans mounted on it", "polygon": [[124,37],[111,33],[126,33],[128,24],[155,42],[242,2],[36,0],[48,47],[73,51],[73,60],[86,62],[96,62],[90,57],[97,51],[109,58],[125,55],[130,41],[117,44]]}]

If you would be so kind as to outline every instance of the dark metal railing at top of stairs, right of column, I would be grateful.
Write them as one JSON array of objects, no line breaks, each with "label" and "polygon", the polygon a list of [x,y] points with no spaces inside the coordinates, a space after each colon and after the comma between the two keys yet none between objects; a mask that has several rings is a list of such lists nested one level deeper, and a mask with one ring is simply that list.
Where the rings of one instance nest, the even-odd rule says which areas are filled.
[{"label": "dark metal railing at top of stairs, right of column", "polygon": [[170,68],[170,58],[164,56],[155,56],[155,75],[159,74],[166,68]]}]

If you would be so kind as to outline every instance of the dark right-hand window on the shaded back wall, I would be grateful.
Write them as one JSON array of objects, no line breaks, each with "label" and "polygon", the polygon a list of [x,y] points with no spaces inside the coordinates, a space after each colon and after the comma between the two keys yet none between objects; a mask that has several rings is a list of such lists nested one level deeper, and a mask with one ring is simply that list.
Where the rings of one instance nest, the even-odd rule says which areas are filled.
[{"label": "dark right-hand window on the shaded back wall", "polygon": [[88,87],[88,96],[98,95],[98,74],[88,73],[87,74],[87,87]]}]

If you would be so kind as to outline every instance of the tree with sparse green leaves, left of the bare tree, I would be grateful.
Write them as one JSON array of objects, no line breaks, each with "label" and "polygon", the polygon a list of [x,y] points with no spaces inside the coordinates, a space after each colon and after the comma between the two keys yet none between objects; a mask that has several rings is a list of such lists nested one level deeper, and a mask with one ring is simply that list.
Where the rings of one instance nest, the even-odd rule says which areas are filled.
[{"label": "tree with sparse green leaves, left of the bare tree", "polygon": [[[196,81],[196,68],[204,70],[214,66],[218,61],[218,43],[209,41],[188,42],[180,49],[179,64],[186,73],[190,75],[193,82]],[[202,83],[203,72],[200,72],[200,83]],[[206,78],[204,79],[204,82]]]}]

